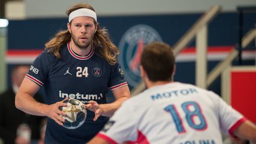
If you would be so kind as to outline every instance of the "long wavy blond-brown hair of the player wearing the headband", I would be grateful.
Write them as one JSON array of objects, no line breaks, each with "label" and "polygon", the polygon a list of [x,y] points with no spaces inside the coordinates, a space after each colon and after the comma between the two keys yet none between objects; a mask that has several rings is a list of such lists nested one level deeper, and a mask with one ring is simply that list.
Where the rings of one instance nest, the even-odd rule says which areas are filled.
[{"label": "long wavy blond-brown hair of the player wearing the headband", "polygon": [[[72,11],[80,8],[88,8],[92,11],[95,11],[91,5],[88,4],[76,4],[72,8],[66,11],[66,14],[69,16]],[[70,22],[72,23],[72,21]],[[94,24],[97,27],[97,31],[94,34],[93,45],[95,47],[95,54],[100,57],[103,57],[107,60],[108,63],[114,65],[117,62],[117,55],[119,54],[119,49],[116,45],[110,40],[108,35],[108,30],[105,28],[100,28],[100,25],[94,21]],[[52,52],[54,55],[60,59],[60,48],[71,41],[71,33],[68,30],[59,31],[51,40],[47,41],[44,44],[45,49],[48,49],[47,52]]]}]

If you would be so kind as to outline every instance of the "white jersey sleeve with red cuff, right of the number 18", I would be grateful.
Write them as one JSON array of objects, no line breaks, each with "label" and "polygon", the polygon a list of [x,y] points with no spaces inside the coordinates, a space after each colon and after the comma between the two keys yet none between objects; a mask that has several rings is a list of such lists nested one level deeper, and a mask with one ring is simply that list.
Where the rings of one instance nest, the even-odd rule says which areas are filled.
[{"label": "white jersey sleeve with red cuff, right of the number 18", "polygon": [[216,110],[219,114],[220,129],[223,132],[233,135],[233,130],[239,127],[246,119],[245,117],[233,109],[231,105],[226,104],[219,95],[210,92],[216,101]]}]

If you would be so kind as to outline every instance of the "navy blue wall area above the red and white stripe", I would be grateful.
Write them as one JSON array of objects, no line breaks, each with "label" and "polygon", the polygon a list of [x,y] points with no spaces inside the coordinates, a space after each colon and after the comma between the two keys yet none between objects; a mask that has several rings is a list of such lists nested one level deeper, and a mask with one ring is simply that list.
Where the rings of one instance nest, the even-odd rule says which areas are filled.
[{"label": "navy blue wall area above the red and white stripe", "polygon": [[[99,17],[118,45],[124,32],[136,24],[146,24],[161,35],[163,41],[173,45],[201,16],[201,14],[175,14],[152,16]],[[209,45],[233,45],[238,41],[239,17],[236,12],[217,15],[209,25]],[[8,49],[42,49],[44,43],[59,30],[66,29],[67,18],[11,20],[8,26]],[[244,33],[254,27],[256,14],[244,16]],[[191,46],[194,46],[192,43]]]}]

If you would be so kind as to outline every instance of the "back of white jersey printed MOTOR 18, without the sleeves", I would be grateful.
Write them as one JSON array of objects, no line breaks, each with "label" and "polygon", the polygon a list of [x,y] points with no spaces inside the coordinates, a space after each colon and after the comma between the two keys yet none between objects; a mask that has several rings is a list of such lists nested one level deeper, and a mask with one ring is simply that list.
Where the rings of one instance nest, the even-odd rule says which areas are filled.
[{"label": "back of white jersey printed MOTOR 18, without the sleeves", "polygon": [[226,131],[232,125],[220,118],[219,96],[179,82],[147,89],[126,104],[135,109],[139,136],[149,143],[222,143],[221,125]]}]

